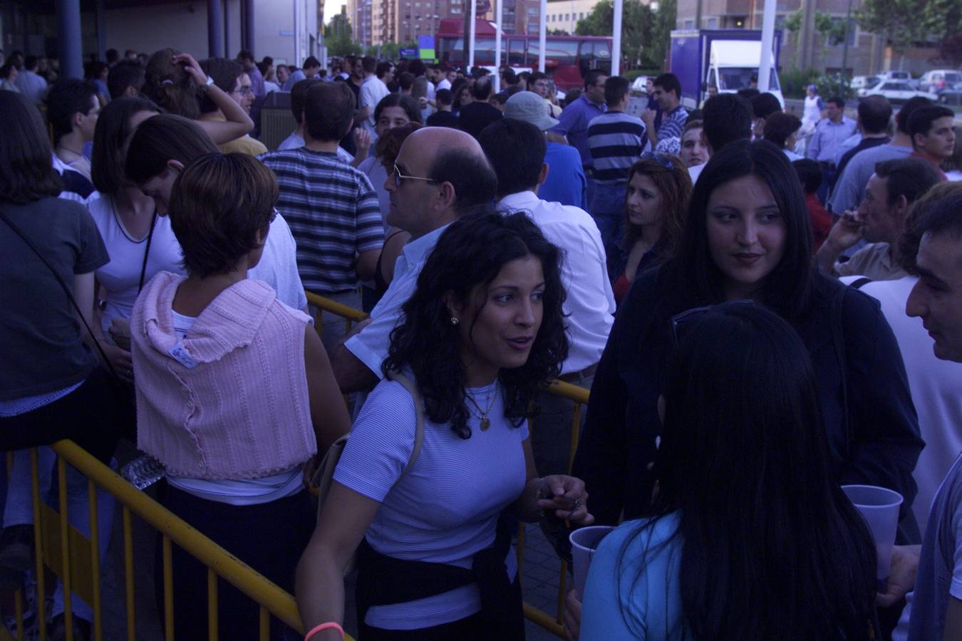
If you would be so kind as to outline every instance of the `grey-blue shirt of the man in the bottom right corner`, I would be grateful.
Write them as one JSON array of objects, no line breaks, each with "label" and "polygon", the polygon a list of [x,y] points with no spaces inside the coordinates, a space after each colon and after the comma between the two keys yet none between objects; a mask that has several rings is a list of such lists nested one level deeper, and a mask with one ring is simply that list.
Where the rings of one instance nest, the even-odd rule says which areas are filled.
[{"label": "grey-blue shirt of the man in the bottom right corner", "polygon": [[949,596],[962,599],[962,456],[935,494],[915,579],[909,641],[941,639]]}]

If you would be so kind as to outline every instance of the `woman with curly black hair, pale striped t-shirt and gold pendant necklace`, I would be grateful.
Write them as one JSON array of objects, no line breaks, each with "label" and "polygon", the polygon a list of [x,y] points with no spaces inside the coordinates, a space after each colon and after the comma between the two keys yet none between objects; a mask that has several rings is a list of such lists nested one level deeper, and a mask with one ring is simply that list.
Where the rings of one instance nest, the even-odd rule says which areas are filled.
[{"label": "woman with curly black hair, pale striped t-shirt and gold pendant necklace", "polygon": [[[468,214],[439,239],[384,363],[415,381],[418,398],[391,379],[368,397],[298,565],[312,641],[341,638],[355,549],[361,639],[523,638],[499,514],[594,520],[581,481],[538,478],[525,421],[568,354],[558,262],[523,213]],[[402,473],[421,403],[422,445]]]}]

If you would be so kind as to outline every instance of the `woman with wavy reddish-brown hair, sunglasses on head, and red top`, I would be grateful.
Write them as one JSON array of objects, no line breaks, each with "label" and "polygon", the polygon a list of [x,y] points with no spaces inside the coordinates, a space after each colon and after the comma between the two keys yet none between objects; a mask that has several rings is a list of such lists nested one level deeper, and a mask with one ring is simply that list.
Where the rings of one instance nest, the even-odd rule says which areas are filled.
[{"label": "woman with wavy reddish-brown hair, sunglasses on head, and red top", "polygon": [[647,153],[631,165],[624,225],[607,247],[608,278],[619,304],[636,275],[671,258],[691,196],[692,179],[677,156]]}]

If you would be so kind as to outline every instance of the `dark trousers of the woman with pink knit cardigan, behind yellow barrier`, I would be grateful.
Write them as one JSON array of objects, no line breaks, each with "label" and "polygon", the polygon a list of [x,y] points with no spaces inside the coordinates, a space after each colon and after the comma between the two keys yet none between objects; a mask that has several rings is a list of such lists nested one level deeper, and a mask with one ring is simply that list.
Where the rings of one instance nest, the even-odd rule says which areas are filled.
[{"label": "dark trousers of the woman with pink knit cardigan, behind yellow barrier", "polygon": [[[294,567],[314,528],[306,490],[262,505],[227,505],[199,499],[163,483],[159,499],[174,514],[207,535],[227,552],[280,587],[293,592]],[[207,567],[172,546],[174,638],[207,638]],[[164,563],[158,536],[155,589],[164,612]],[[240,590],[217,579],[217,630],[221,639],[257,639],[259,607]],[[274,619],[271,638],[284,637],[286,626]]]}]

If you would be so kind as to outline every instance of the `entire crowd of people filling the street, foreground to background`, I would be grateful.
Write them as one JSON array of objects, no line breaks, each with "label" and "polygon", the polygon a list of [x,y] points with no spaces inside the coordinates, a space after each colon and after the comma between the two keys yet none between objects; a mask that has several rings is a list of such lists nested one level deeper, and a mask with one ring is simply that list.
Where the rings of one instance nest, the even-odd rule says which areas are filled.
[{"label": "entire crowd of people filling the street, foreground to background", "polygon": [[[814,87],[801,118],[756,89],[689,110],[666,73],[636,117],[598,69],[559,101],[510,67],[115,53],[49,86],[32,57],[0,67],[0,585],[33,567],[26,448],[116,466],[127,439],[311,641],[342,638],[355,567],[363,640],[523,638],[521,521],[561,555],[618,526],[568,594],[572,639],[962,638],[953,112],[873,96],[853,121]],[[305,292],[369,318],[315,326]],[[591,389],[573,462],[553,380]],[[903,499],[882,585],[844,484]],[[206,570],[172,563],[191,638]],[[257,636],[226,582],[216,607]],[[58,587],[55,635],[64,608]]]}]

